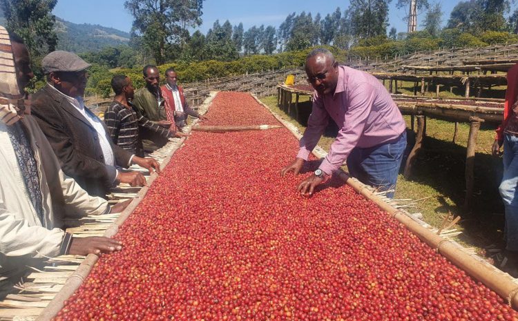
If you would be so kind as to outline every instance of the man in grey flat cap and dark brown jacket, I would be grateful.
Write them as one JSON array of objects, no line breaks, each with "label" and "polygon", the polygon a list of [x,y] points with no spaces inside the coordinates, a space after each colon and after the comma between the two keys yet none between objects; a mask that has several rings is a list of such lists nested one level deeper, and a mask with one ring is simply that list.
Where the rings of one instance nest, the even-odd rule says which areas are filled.
[{"label": "man in grey flat cap and dark brown jacket", "polygon": [[106,197],[119,182],[144,186],[141,173],[118,171],[138,164],[160,171],[153,158],[141,158],[111,142],[103,122],[84,106],[90,64],[73,52],[50,52],[41,61],[47,84],[32,97],[37,119],[66,175],[75,178],[90,195]]}]

